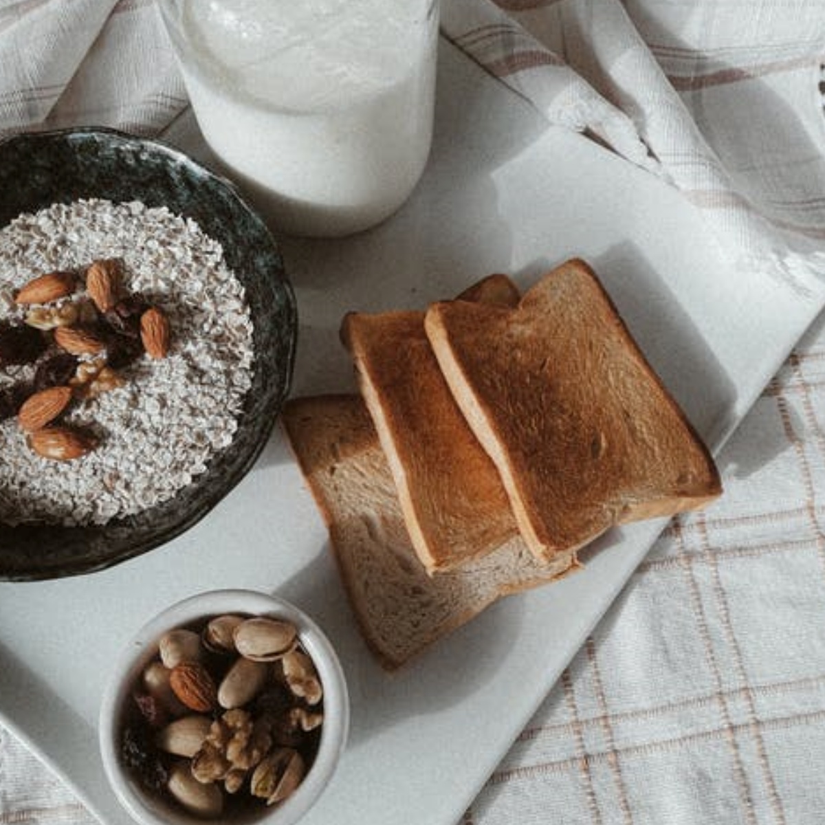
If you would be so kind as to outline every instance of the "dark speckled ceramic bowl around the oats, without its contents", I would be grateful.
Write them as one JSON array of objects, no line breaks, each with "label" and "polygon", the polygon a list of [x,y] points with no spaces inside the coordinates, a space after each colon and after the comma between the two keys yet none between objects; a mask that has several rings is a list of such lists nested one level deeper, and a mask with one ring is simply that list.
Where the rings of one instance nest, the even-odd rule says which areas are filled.
[{"label": "dark speckled ceramic bowl around the oats, without its contents", "polygon": [[295,295],[266,226],[228,181],[177,149],[111,130],[25,134],[0,143],[0,227],[21,212],[92,197],[165,205],[195,219],[223,245],[252,312],[252,389],[232,445],[170,501],[99,527],[0,523],[3,580],[89,573],[180,535],[252,467],[290,385],[298,327]]}]

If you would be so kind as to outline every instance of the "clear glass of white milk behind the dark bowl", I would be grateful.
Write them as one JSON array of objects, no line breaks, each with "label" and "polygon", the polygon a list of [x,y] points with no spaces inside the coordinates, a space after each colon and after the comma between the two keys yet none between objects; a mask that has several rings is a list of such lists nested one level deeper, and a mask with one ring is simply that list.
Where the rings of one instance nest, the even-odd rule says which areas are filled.
[{"label": "clear glass of white milk behind the dark bowl", "polygon": [[161,0],[204,137],[276,229],[340,236],[427,163],[438,0]]}]

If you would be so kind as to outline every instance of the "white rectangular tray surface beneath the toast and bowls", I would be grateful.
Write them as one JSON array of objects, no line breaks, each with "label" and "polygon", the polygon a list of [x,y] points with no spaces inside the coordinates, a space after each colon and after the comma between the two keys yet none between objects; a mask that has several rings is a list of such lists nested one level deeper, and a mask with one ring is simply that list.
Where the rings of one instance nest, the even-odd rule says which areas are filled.
[{"label": "white rectangular tray surface beneath the toast and bowls", "polygon": [[[757,276],[738,284],[683,200],[548,128],[446,44],[439,82],[431,163],[402,212],[358,238],[284,243],[299,300],[294,394],[354,387],[337,341],[348,309],[423,307],[491,271],[527,285],[580,255],[718,446],[817,314],[821,291],[804,297]],[[186,124],[169,136],[202,151]],[[328,631],[351,689],[351,741],[306,825],[454,825],[661,527],[610,533],[583,573],[500,602],[388,676],[361,643],[326,531],[276,432],[243,483],[171,544],[102,573],[0,585],[0,718],[101,820],[125,825],[96,743],[124,640],[195,592],[277,592]]]}]

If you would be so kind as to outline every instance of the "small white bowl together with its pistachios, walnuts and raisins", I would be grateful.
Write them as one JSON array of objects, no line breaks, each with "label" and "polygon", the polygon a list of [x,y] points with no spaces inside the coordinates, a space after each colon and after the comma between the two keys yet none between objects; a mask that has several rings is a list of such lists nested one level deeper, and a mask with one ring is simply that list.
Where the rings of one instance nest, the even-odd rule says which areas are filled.
[{"label": "small white bowl together with its pistachios, walnuts and raisins", "polygon": [[302,610],[244,590],[192,596],[125,646],[101,702],[115,795],[144,825],[289,825],[327,787],[349,703]]}]

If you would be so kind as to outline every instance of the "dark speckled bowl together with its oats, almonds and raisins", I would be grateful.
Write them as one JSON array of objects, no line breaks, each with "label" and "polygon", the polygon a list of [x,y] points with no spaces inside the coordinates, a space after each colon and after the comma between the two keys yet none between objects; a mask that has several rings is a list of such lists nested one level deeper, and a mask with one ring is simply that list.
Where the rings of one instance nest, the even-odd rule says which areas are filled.
[{"label": "dark speckled bowl together with its oats, almonds and raisins", "polygon": [[112,130],[0,143],[0,579],[89,573],[205,516],[289,391],[295,295],[224,178]]}]

